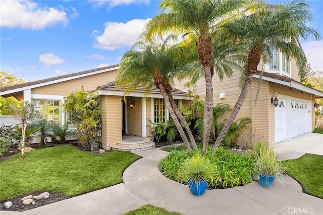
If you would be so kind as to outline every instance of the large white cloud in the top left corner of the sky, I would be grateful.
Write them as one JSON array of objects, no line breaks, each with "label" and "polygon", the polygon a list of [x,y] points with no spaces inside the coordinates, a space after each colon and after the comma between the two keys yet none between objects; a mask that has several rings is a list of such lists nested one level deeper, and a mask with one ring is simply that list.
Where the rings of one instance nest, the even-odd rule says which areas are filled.
[{"label": "large white cloud in the top left corner of the sky", "polygon": [[[0,7],[1,27],[19,27],[23,29],[43,29],[49,25],[68,23],[65,8],[40,8],[40,6],[32,1],[26,0],[10,0],[1,1]],[[71,18],[75,18],[78,13],[75,9],[71,9],[73,14]]]}]

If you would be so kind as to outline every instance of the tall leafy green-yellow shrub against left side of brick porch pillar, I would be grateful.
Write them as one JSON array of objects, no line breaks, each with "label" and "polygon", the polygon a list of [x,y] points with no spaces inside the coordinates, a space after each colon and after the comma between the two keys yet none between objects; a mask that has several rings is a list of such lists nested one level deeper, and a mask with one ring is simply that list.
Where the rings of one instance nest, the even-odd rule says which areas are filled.
[{"label": "tall leafy green-yellow shrub against left side of brick porch pillar", "polygon": [[76,90],[66,97],[64,111],[70,113],[71,122],[76,124],[75,134],[84,149],[90,149],[90,142],[99,142],[101,130],[101,107],[97,94]]}]

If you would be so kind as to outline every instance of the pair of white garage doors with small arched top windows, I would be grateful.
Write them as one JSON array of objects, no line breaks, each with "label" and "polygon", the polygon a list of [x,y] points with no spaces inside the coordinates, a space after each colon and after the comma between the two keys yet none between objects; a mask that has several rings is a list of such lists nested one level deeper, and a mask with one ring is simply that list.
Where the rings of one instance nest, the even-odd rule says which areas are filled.
[{"label": "pair of white garage doors with small arched top windows", "polygon": [[275,107],[275,143],[311,131],[310,101],[279,99]]}]

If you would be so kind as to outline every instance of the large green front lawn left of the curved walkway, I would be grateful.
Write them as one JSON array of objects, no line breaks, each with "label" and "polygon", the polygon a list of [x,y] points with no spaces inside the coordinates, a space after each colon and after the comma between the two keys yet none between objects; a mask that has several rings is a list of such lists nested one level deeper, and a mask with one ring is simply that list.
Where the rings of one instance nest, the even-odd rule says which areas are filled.
[{"label": "large green front lawn left of the curved walkway", "polygon": [[131,152],[90,154],[62,145],[18,154],[0,163],[0,200],[37,191],[80,195],[122,182],[123,171],[140,156]]}]

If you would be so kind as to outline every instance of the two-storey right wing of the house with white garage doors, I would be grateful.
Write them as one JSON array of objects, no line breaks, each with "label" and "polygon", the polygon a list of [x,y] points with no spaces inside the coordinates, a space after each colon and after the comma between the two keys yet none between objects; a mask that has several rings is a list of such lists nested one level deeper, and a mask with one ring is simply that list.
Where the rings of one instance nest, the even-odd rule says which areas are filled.
[{"label": "two-storey right wing of the house with white garage doors", "polygon": [[[292,42],[298,44],[297,40],[293,39]],[[316,98],[323,98],[323,92],[299,82],[296,60],[287,61],[276,49],[272,53],[273,59],[269,65],[260,61],[251,89],[236,119],[249,117],[251,128],[246,136],[256,136],[258,140],[274,144],[314,130],[314,103]],[[228,103],[234,107],[240,95],[240,77],[240,72],[235,72],[231,79],[224,78],[223,81],[217,75],[213,76],[214,104]],[[262,82],[258,92],[260,77]],[[185,83],[178,82],[176,87],[187,91]],[[204,100],[204,79],[200,79],[195,86],[196,93]],[[274,106],[272,100],[276,97],[278,105]],[[227,117],[229,114],[222,119]]]}]

